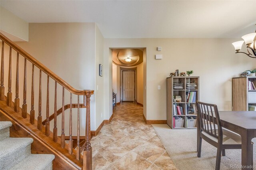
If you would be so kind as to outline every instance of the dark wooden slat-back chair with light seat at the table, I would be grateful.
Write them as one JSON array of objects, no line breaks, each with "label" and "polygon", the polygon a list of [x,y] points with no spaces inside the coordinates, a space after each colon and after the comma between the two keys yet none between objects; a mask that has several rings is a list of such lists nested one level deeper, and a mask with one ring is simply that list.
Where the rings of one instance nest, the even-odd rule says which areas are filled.
[{"label": "dark wooden slat-back chair with light seat at the table", "polygon": [[197,157],[201,157],[202,138],[217,148],[215,170],[220,169],[220,159],[225,149],[241,149],[241,136],[222,128],[216,105],[196,101],[199,133],[197,136]]}]

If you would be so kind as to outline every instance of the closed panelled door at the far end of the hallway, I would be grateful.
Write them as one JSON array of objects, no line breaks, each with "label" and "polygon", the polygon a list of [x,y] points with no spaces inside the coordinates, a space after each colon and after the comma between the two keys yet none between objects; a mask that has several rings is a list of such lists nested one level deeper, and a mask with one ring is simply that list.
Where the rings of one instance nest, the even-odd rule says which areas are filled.
[{"label": "closed panelled door at the far end of the hallway", "polygon": [[134,101],[135,71],[123,72],[123,101]]}]

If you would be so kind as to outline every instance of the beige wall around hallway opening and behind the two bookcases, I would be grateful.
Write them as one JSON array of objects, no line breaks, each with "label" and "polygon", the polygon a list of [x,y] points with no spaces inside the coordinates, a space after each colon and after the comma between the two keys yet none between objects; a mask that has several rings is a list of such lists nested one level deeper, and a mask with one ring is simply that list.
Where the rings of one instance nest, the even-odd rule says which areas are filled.
[{"label": "beige wall around hallway opening and behind the two bookcases", "polygon": [[[243,54],[235,54],[232,42],[237,39],[105,39],[105,51],[109,48],[146,47],[146,118],[166,120],[166,77],[170,72],[193,70],[200,76],[200,100],[216,103],[220,110],[232,108],[232,77],[256,66],[254,60]],[[161,46],[162,51],[156,51]],[[163,59],[156,60],[155,55]],[[112,55],[104,53],[112,61]],[[106,71],[112,75],[112,63]],[[112,77],[109,77],[112,87]],[[158,85],[161,90],[158,90]],[[145,102],[144,102],[145,103]]]}]

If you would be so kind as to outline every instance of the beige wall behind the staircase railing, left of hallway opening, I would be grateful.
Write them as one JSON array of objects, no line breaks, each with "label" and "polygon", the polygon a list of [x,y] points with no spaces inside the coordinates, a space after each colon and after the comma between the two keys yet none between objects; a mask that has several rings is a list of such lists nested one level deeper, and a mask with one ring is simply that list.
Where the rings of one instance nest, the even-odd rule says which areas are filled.
[{"label": "beige wall behind the staircase railing, left of hallway opening", "polygon": [[[96,126],[103,120],[104,100],[102,95],[103,77],[98,76],[98,64],[103,63],[103,37],[100,34],[95,23],[33,23],[29,24],[29,42],[18,42],[25,51],[30,53],[38,61],[46,65],[50,70],[56,73],[59,77],[64,79],[72,87],[78,90],[93,89],[98,85],[99,90],[91,97],[90,112],[91,112],[91,129],[96,130]],[[14,57],[15,58],[15,57]],[[24,60],[20,57],[22,61]],[[24,68],[23,63],[20,67]],[[15,66],[13,66],[15,68]],[[28,67],[28,82],[31,82],[31,66]],[[14,70],[15,71],[15,70]],[[38,72],[36,71],[35,79],[38,80]],[[7,73],[7,71],[6,71]],[[14,74],[15,75],[15,72]],[[20,76],[23,72],[20,72]],[[42,80],[46,85],[46,77]],[[14,82],[15,83],[15,82]],[[22,84],[22,83],[20,83]],[[28,83],[29,85],[30,83]],[[35,110],[36,115],[38,111],[38,82],[35,82]],[[12,86],[15,87],[15,86]],[[28,96],[31,87],[28,86]],[[42,86],[43,99],[45,99],[45,88]],[[54,88],[54,81],[50,82],[50,88]],[[22,87],[20,88],[22,89]],[[50,89],[50,114],[53,113],[54,106],[54,90]],[[61,95],[61,89],[58,90],[58,95]],[[65,104],[69,103],[69,95],[65,92]],[[30,97],[27,97],[30,100]],[[14,99],[14,98],[13,98]],[[83,98],[80,97],[80,103]],[[61,107],[61,98],[58,100],[58,108]],[[97,100],[97,102],[96,102]],[[22,101],[22,95],[20,95]],[[73,103],[77,103],[77,96],[73,95]],[[97,103],[97,109],[96,109]],[[28,108],[30,101],[28,101]],[[45,103],[43,103],[42,109]],[[69,112],[69,111],[68,111]],[[68,114],[65,112],[66,120]],[[73,120],[76,122],[77,109],[73,110]],[[102,117],[101,117],[102,113]],[[45,110],[42,114],[45,116]],[[61,116],[58,117],[58,122]],[[85,110],[80,110],[80,128],[85,128]],[[97,120],[97,121],[96,121]],[[67,121],[68,122],[68,121]],[[58,123],[59,124],[59,123]],[[68,123],[65,124],[68,129]],[[58,128],[59,130],[60,128]],[[73,134],[76,132],[73,132]],[[67,133],[66,133],[67,134]]]}]

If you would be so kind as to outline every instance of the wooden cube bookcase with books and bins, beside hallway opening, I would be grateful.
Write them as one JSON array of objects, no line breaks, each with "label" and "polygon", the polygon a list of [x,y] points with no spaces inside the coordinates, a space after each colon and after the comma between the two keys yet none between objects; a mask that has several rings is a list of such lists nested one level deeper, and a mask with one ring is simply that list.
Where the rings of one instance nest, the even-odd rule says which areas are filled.
[{"label": "wooden cube bookcase with books and bins, beside hallway opening", "polygon": [[171,128],[196,128],[196,101],[199,100],[199,77],[167,77],[166,83],[167,125]]}]

